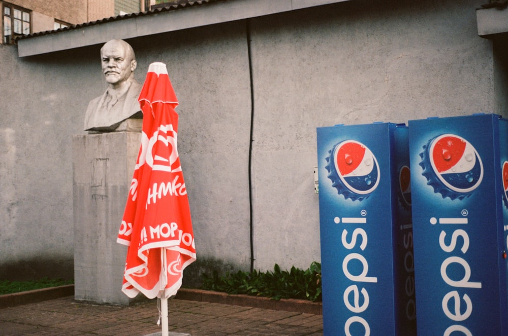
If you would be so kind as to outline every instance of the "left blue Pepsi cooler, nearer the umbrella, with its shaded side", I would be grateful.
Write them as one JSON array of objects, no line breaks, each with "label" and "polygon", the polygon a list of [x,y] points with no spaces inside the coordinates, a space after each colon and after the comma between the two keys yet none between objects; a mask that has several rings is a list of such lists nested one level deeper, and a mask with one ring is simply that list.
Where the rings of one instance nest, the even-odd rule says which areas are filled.
[{"label": "left blue Pepsi cooler, nearer the umbrella, with its shaded side", "polygon": [[317,128],[325,335],[416,335],[408,130]]}]

